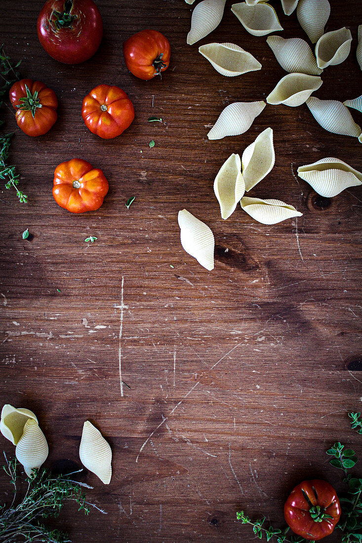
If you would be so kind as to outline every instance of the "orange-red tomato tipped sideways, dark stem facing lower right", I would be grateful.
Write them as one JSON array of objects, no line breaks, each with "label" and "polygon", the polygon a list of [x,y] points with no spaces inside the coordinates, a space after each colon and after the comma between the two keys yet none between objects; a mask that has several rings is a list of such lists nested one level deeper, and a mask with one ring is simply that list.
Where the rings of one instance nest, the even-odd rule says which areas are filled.
[{"label": "orange-red tomato tipped sideways, dark stem facing lower right", "polygon": [[161,75],[170,64],[170,42],[158,30],[141,30],[123,43],[123,55],[133,75],[152,79]]}]

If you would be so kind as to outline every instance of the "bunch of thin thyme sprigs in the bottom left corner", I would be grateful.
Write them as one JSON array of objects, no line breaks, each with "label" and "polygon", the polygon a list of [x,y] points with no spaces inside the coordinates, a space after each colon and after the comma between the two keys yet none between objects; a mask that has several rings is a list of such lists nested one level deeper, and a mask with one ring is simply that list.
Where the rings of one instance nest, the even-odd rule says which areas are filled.
[{"label": "bunch of thin thyme sprigs in the bottom left corner", "polygon": [[[5,460],[4,471],[10,477],[10,483],[14,487],[14,497],[10,505],[0,506],[1,543],[13,541],[65,543],[70,541],[66,533],[43,525],[43,520],[49,516],[57,517],[64,503],[68,500],[78,503],[78,510],[82,510],[88,515],[88,506],[96,506],[86,501],[81,487],[89,489],[92,487],[70,479],[70,476],[78,471],[69,473],[67,476],[53,476],[45,469],[34,470],[34,475],[26,478],[27,489],[23,497],[20,498],[17,496],[19,475],[16,459],[8,460],[5,456]],[[105,513],[102,510],[101,512]]]}]

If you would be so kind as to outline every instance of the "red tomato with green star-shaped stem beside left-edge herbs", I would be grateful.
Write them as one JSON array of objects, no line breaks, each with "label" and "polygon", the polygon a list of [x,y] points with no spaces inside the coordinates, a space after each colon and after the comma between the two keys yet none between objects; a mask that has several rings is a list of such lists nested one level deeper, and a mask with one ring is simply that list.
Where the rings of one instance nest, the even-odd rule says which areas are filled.
[{"label": "red tomato with green star-shaped stem beside left-edge herbs", "polygon": [[11,87],[9,98],[19,128],[28,136],[46,134],[57,121],[58,100],[52,89],[32,79],[16,81]]}]

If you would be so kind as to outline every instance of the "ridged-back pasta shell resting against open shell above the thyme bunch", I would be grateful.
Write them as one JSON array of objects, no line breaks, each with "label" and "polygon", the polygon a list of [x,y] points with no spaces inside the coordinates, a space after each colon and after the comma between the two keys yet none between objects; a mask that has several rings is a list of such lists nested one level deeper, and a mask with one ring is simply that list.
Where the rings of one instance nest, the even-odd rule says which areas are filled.
[{"label": "ridged-back pasta shell resting against open shell above the thyme bunch", "polygon": [[28,419],[24,431],[19,439],[15,456],[24,466],[26,474],[30,477],[34,468],[40,468],[48,457],[48,444],[45,435],[34,419]]}]

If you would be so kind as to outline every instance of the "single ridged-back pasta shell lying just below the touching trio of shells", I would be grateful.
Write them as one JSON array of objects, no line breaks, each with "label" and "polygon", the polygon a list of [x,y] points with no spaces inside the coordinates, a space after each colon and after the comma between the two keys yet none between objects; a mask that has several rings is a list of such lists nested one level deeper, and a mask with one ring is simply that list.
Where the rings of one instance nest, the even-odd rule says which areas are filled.
[{"label": "single ridged-back pasta shell lying just below the touching trio of shells", "polygon": [[214,269],[214,234],[194,215],[183,209],[178,212],[181,245],[207,270]]}]

